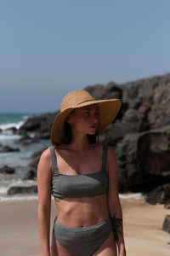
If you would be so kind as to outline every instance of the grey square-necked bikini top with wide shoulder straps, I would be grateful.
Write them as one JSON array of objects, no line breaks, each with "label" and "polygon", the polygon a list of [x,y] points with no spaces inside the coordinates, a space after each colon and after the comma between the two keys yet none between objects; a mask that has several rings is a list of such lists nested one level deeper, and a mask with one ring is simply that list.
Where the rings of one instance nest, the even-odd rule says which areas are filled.
[{"label": "grey square-necked bikini top with wide shoulder straps", "polygon": [[66,175],[59,172],[55,150],[50,146],[53,166],[51,192],[54,198],[79,197],[105,194],[108,190],[108,177],[106,174],[107,144],[104,144],[102,166],[99,172],[88,174]]}]

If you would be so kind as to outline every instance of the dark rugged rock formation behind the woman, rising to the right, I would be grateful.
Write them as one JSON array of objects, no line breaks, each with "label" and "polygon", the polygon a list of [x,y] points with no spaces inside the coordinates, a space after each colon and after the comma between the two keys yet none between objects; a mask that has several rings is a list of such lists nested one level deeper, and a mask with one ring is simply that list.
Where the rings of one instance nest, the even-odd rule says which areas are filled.
[{"label": "dark rugged rock formation behind the woman, rising to the right", "polygon": [[[119,191],[150,192],[170,182],[170,73],[126,84],[96,84],[85,88],[95,99],[119,98],[122,108],[99,136],[116,151]],[[50,137],[57,113],[27,119],[22,131]],[[37,166],[38,158],[30,166]]]}]

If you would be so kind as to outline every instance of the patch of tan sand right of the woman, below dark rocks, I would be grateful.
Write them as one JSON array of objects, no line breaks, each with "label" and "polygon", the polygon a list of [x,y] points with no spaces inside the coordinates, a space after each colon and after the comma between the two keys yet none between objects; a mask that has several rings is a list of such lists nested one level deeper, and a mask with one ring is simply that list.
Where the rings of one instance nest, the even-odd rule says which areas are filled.
[{"label": "patch of tan sand right of the woman, below dark rocks", "polygon": [[122,210],[127,256],[170,255],[170,234],[161,230],[169,210],[144,200],[123,201]]}]

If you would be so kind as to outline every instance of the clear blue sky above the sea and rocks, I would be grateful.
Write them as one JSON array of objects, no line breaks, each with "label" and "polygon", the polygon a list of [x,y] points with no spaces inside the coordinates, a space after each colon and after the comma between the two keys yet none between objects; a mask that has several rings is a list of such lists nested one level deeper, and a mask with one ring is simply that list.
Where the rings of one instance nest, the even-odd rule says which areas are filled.
[{"label": "clear blue sky above the sea and rocks", "polygon": [[170,72],[169,0],[0,1],[0,113]]}]

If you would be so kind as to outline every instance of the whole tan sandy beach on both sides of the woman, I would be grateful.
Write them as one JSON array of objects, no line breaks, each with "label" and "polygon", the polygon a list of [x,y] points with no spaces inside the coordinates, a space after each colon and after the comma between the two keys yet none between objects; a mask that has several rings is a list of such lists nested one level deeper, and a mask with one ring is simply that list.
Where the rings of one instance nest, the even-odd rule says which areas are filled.
[{"label": "whole tan sandy beach on both sides of the woman", "polygon": [[[124,236],[128,256],[167,256],[170,234],[161,230],[169,210],[152,206],[144,198],[121,198]],[[1,256],[40,256],[37,230],[37,200],[0,202]],[[52,201],[51,226],[56,215]],[[80,255],[81,256],[81,255]]]}]

